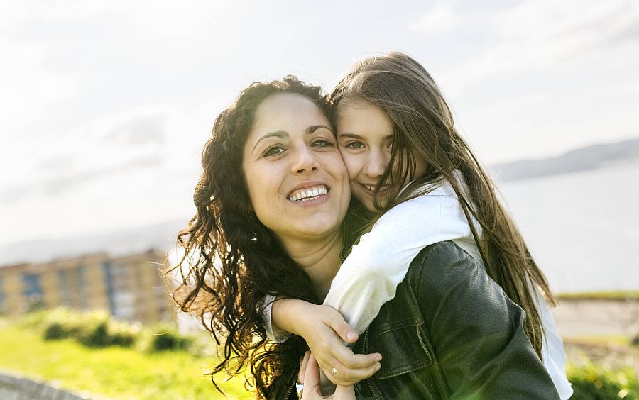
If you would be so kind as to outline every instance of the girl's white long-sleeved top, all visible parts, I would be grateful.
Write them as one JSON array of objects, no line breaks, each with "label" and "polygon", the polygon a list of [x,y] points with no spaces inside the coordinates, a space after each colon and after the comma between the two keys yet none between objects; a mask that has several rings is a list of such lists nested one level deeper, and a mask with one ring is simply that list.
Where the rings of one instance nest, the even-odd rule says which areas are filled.
[{"label": "girl's white long-sleeved top, all visible parts", "polygon": [[[481,237],[479,223],[474,226]],[[444,240],[457,244],[484,267],[457,194],[445,181],[437,189],[386,211],[371,231],[361,236],[334,277],[324,305],[342,313],[357,333],[364,332],[381,306],[395,297],[410,262],[427,245]],[[540,291],[535,288],[535,292],[545,330],[543,362],[561,399],[568,399],[572,387],[566,376],[564,344],[557,334],[550,307]],[[266,330],[269,338],[282,341],[288,333],[273,331],[273,300],[274,297],[267,296],[265,301]]]}]

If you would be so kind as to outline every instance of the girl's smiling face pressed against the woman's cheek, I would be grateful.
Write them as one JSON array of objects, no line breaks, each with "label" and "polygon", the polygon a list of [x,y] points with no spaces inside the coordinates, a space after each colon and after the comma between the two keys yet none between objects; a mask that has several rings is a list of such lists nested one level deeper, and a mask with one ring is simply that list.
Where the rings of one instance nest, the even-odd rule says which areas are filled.
[{"label": "girl's smiling face pressed against the woman's cheek", "polygon": [[[366,100],[347,99],[339,104],[337,142],[351,181],[351,193],[368,211],[378,211],[373,192],[386,171],[393,149],[393,123],[386,113]],[[415,177],[425,172],[425,163],[415,160]],[[408,182],[405,182],[408,183]],[[388,201],[390,187],[381,187],[378,201]]]}]

